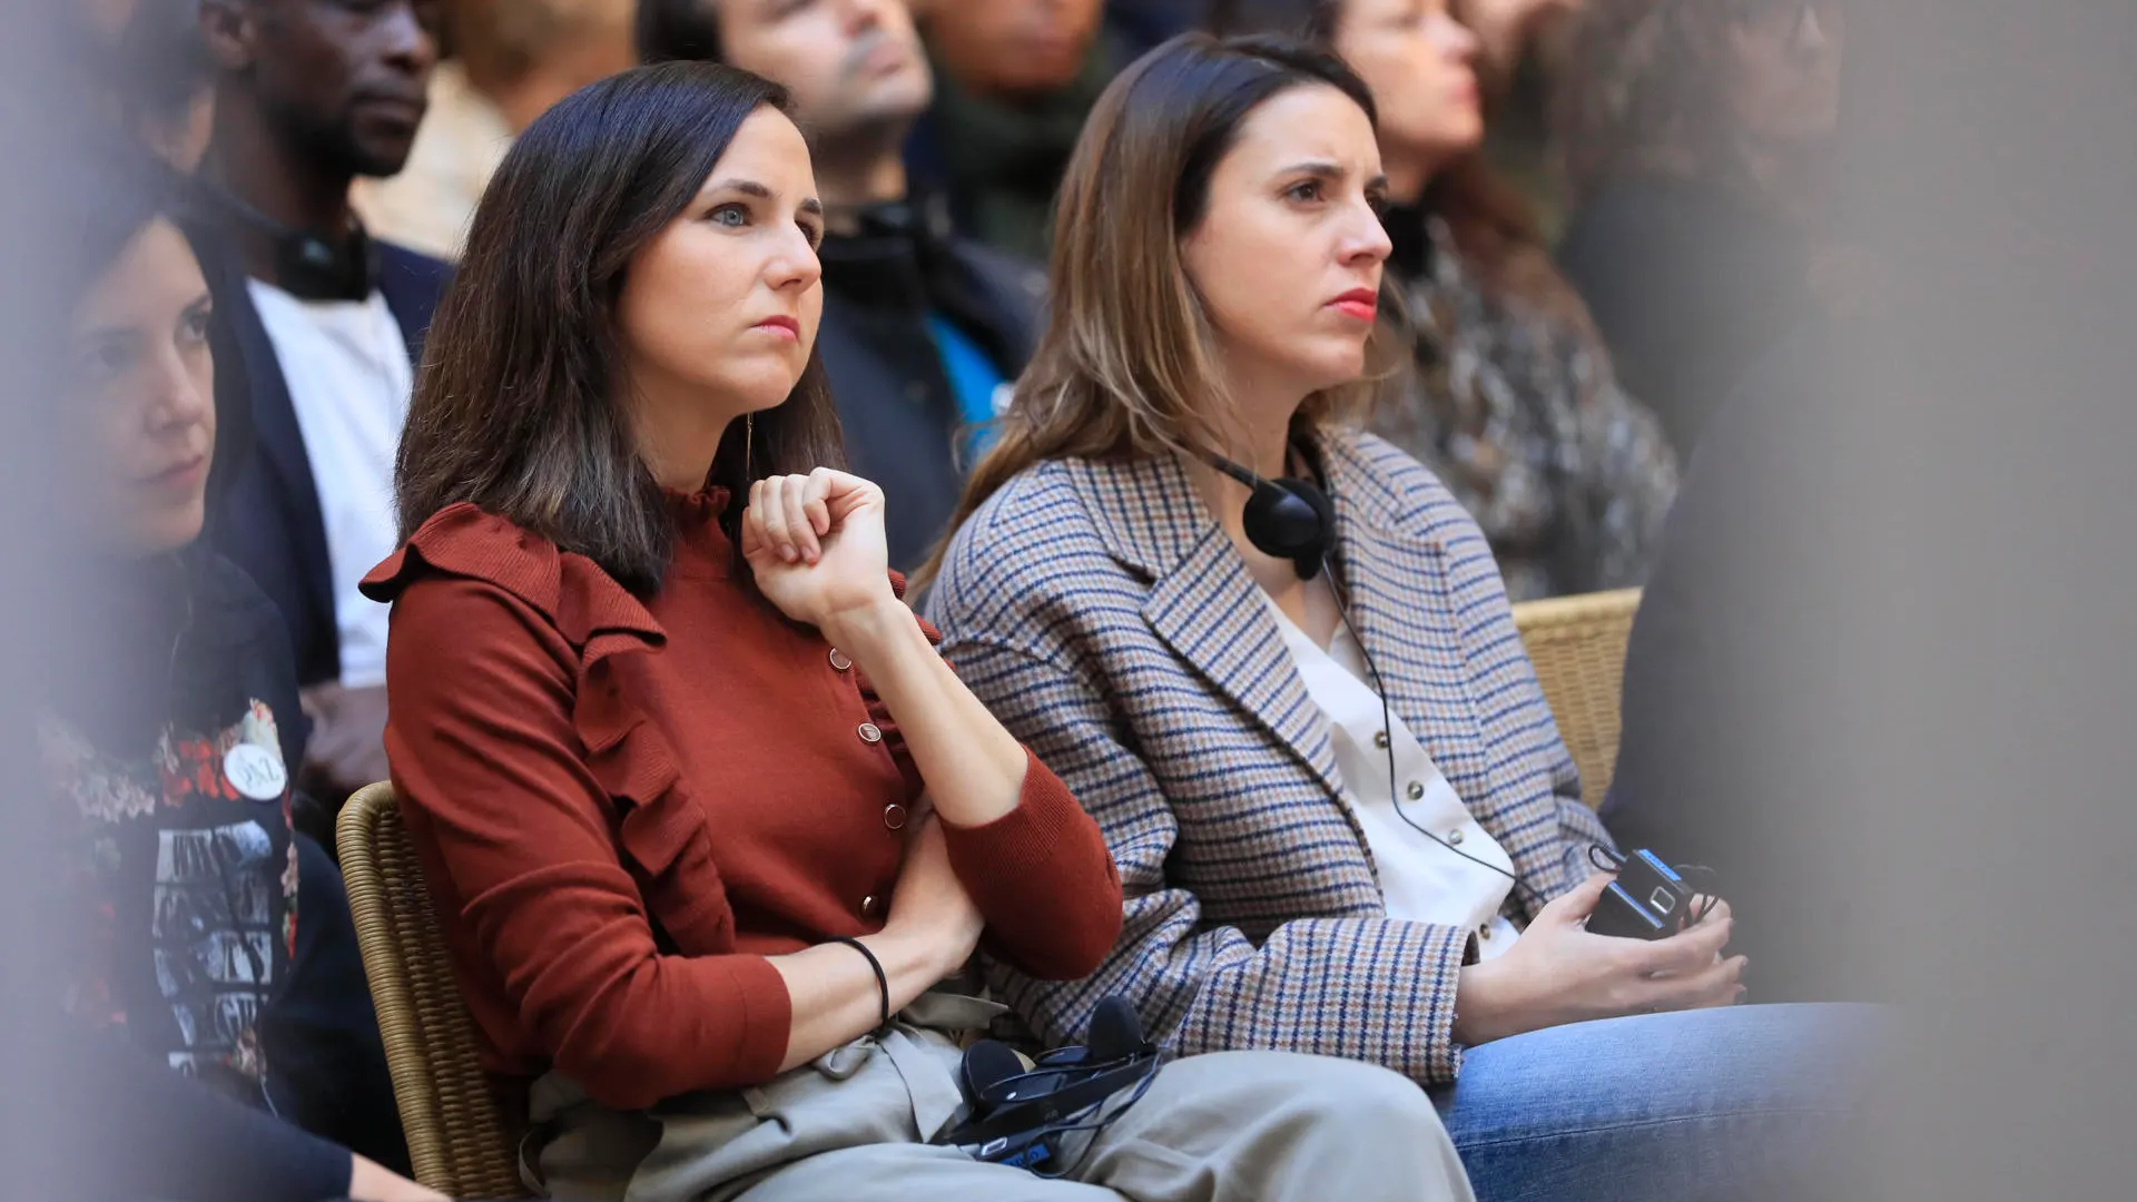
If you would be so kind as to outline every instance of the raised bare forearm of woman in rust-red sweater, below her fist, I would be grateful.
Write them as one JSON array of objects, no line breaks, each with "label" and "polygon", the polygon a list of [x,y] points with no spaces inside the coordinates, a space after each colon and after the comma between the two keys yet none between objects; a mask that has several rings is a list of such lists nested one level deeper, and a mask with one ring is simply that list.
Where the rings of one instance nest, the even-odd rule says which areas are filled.
[{"label": "raised bare forearm of woman in rust-red sweater, below her fist", "polygon": [[840,616],[825,627],[898,719],[936,813],[985,826],[1017,808],[1028,757],[987,706],[957,680],[904,601]]}]

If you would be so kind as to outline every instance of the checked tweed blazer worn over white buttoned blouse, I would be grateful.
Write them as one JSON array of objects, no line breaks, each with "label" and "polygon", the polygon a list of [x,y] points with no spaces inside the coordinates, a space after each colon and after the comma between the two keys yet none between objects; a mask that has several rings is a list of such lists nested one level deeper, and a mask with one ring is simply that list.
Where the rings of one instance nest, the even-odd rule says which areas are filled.
[{"label": "checked tweed blazer worn over white buttoned blouse", "polygon": [[[1477,522],[1370,434],[1316,441],[1351,622],[1528,920],[1607,843]],[[1453,1080],[1472,933],[1387,918],[1325,714],[1173,458],[1032,466],[951,541],[927,614],[957,674],[1083,802],[1126,890],[1083,982],[994,965],[1049,1044],[1105,995],[1180,1052],[1276,1048]]]}]

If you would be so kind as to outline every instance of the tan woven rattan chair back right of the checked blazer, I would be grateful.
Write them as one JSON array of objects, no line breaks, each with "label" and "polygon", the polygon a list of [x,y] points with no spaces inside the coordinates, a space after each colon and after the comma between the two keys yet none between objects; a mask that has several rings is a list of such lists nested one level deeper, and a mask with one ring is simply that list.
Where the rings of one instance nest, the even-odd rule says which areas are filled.
[{"label": "tan woven rattan chair back right of the checked blazer", "polygon": [[1524,601],[1513,607],[1528,659],[1558,734],[1581,770],[1581,800],[1603,804],[1618,768],[1618,702],[1624,644],[1639,610],[1639,588]]}]

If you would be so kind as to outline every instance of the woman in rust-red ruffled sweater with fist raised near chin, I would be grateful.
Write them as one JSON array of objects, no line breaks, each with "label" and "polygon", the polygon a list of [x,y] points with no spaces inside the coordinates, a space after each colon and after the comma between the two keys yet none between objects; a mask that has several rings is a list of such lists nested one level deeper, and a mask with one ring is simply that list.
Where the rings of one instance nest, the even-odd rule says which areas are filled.
[{"label": "woman in rust-red ruffled sweater with fist raised near chin", "polygon": [[[1423,1095],[1276,1052],[1165,1067],[1041,1181],[932,1146],[938,988],[1075,980],[1120,879],[957,682],[827,468],[825,214],[782,92],[596,83],[492,182],[402,443],[387,751],[489,1067],[560,1196],[1468,1198]],[[994,1007],[998,1010],[998,1007]],[[1359,1149],[1372,1146],[1372,1155]],[[1250,1170],[1246,1166],[1252,1166]]]}]

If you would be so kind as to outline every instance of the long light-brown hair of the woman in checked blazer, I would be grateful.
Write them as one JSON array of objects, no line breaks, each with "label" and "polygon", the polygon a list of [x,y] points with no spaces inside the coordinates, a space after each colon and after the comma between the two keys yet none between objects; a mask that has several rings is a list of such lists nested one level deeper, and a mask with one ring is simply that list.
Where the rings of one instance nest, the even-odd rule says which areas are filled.
[{"label": "long light-brown hair of the woman in checked blazer", "polygon": [[[1239,449],[1210,314],[1180,248],[1201,225],[1210,178],[1246,118],[1306,86],[1336,88],[1378,122],[1372,94],[1342,60],[1276,36],[1180,34],[1105,90],[1056,201],[1047,329],[996,421],[994,449],[915,573],[917,588],[934,580],[972,511],[1032,464]],[[1387,289],[1383,304],[1393,306]],[[1357,419],[1370,402],[1370,381],[1319,391],[1293,428]]]}]

